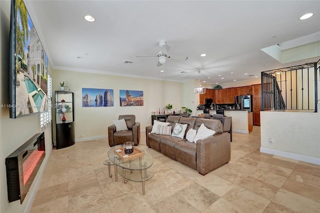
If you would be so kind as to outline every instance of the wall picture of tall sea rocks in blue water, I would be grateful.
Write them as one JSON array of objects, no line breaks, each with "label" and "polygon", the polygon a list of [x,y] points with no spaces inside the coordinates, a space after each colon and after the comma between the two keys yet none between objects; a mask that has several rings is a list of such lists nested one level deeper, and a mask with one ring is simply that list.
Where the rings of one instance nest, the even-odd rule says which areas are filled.
[{"label": "wall picture of tall sea rocks in blue water", "polygon": [[82,88],[82,107],[113,106],[113,89]]}]

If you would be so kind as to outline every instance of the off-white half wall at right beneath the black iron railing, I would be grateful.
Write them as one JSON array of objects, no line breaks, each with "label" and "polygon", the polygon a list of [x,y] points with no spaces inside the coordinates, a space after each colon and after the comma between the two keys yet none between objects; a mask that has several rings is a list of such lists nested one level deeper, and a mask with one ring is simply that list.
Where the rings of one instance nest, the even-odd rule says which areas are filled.
[{"label": "off-white half wall at right beneath the black iron railing", "polygon": [[320,164],[319,112],[260,111],[260,119],[261,152]]}]

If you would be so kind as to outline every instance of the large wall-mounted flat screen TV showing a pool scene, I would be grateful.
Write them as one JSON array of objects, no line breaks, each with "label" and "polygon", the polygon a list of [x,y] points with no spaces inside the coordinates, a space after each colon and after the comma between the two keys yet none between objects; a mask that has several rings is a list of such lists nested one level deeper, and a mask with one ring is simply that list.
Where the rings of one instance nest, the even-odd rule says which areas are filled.
[{"label": "large wall-mounted flat screen TV showing a pool scene", "polygon": [[47,110],[48,60],[23,0],[11,0],[10,117]]}]

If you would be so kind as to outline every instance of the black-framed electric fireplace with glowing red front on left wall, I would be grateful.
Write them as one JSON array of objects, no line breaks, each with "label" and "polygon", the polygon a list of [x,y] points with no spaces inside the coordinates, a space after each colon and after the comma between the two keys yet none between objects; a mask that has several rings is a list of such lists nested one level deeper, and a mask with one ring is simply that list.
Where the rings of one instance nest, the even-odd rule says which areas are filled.
[{"label": "black-framed electric fireplace with glowing red front on left wall", "polygon": [[32,136],[5,158],[8,201],[23,202],[44,159],[44,133]]}]

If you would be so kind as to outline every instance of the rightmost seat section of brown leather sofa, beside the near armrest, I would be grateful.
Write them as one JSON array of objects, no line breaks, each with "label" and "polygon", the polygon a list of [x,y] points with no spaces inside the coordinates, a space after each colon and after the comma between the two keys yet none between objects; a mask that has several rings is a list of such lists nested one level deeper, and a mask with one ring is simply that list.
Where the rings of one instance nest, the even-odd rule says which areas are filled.
[{"label": "rightmost seat section of brown leather sofa, beside the near armrest", "polygon": [[174,146],[177,161],[196,169],[196,144],[186,140],[177,141]]}]

